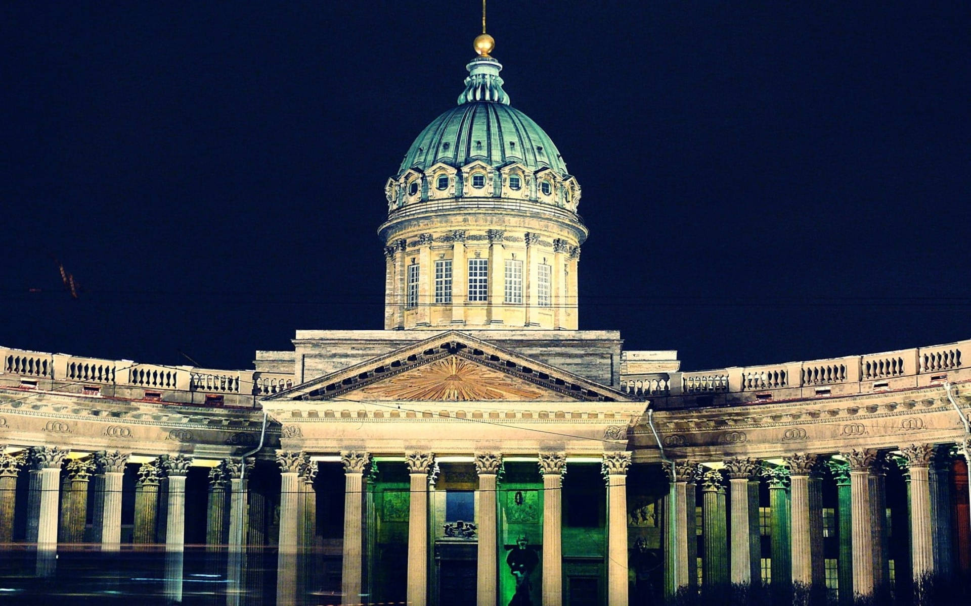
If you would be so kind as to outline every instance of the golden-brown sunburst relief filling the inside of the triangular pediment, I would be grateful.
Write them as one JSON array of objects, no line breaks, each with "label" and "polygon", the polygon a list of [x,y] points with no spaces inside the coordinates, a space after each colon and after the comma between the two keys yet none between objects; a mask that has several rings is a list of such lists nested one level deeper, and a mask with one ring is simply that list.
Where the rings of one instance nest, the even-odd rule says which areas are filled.
[{"label": "golden-brown sunburst relief filling the inside of the triangular pediment", "polygon": [[457,356],[437,360],[360,391],[380,399],[446,401],[530,400],[551,396],[525,381]]}]

